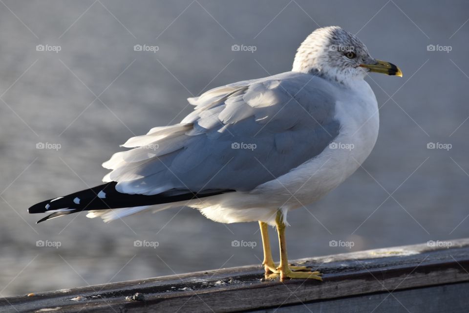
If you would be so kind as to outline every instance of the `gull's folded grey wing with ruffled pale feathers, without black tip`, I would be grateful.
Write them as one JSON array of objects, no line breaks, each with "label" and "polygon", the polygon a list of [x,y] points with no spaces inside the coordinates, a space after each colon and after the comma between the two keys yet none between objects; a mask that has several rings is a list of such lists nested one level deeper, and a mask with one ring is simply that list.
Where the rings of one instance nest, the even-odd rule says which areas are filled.
[{"label": "gull's folded grey wing with ruffled pale feathers, without black tip", "polygon": [[188,99],[180,124],[130,138],[103,164],[116,189],[154,195],[249,191],[318,156],[339,134],[330,83],[287,72]]}]

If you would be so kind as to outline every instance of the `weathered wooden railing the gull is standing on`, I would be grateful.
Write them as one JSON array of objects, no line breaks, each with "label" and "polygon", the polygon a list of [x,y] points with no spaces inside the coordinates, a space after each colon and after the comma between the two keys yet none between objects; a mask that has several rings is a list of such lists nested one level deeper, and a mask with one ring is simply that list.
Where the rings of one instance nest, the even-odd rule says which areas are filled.
[{"label": "weathered wooden railing the gull is standing on", "polygon": [[[354,305],[357,306],[360,301],[366,299],[373,299],[376,302],[385,298],[380,310],[375,312],[386,312],[383,309],[384,306],[394,308],[392,306],[395,305],[389,302],[392,299],[395,300],[392,295],[387,296],[389,291],[393,291],[393,295],[400,292],[399,294],[403,294],[403,301],[406,301],[408,306],[415,307],[418,303],[415,301],[420,300],[412,302],[412,297],[407,297],[406,294],[409,291],[404,291],[409,289],[414,292],[409,294],[425,295],[432,300],[435,300],[432,294],[443,295],[447,292],[445,297],[448,300],[453,299],[451,304],[456,309],[461,309],[464,303],[456,301],[455,296],[449,293],[454,291],[452,286],[460,286],[463,288],[460,291],[464,294],[463,299],[469,299],[468,284],[455,284],[469,281],[469,239],[454,240],[449,243],[450,248],[428,247],[423,244],[315,257],[294,262],[320,270],[323,273],[323,282],[315,280],[289,280],[283,283],[275,280],[263,281],[263,270],[260,266],[246,266],[65,291],[37,292],[31,297],[26,295],[8,297],[0,299],[0,311],[35,312],[41,309],[57,309],[56,312],[67,313],[145,313],[176,312],[177,310],[180,310],[179,312],[256,310],[270,312],[269,310],[279,306],[283,306],[282,310],[289,310],[291,308],[289,306],[292,305],[299,306],[298,310],[301,308],[303,310],[306,307],[302,303],[310,303],[311,308],[317,310],[321,308],[320,303],[334,302],[337,308],[341,308],[347,303],[348,305],[355,303]],[[436,289],[428,288],[430,286],[435,286]],[[144,296],[144,301],[126,299],[137,292]],[[348,300],[341,299],[343,297],[348,297]],[[370,300],[370,303],[373,301]],[[353,308],[349,311],[330,312],[366,311],[360,311],[360,308],[359,306],[356,310]],[[436,310],[438,307],[432,308]],[[458,312],[456,309],[451,312]],[[309,311],[306,310],[306,312]],[[414,310],[411,312],[430,311]]]}]

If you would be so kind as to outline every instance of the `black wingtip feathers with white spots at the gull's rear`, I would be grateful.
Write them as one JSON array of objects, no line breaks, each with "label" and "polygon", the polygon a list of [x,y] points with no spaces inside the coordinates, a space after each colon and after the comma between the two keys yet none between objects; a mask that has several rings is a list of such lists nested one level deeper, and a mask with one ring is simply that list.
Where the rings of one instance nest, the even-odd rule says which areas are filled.
[{"label": "black wingtip feathers with white spots at the gull's rear", "polygon": [[[88,217],[102,217],[104,214],[96,213],[99,210],[116,210],[117,218],[127,216],[155,204],[172,203],[179,201],[190,201],[192,199],[218,195],[227,191],[215,191],[211,193],[196,194],[187,192],[183,194],[168,195],[129,195],[120,193],[116,190],[117,182],[111,181],[93,188],[85,189],[70,195],[55,199],[46,200],[31,206],[28,212],[33,213],[51,213],[37,223],[41,223],[56,217],[80,211],[93,211],[88,213]],[[124,212],[122,208],[126,208]],[[122,211],[122,212],[120,212]],[[108,218],[107,220],[112,220]],[[106,221],[106,219],[105,219]]]}]

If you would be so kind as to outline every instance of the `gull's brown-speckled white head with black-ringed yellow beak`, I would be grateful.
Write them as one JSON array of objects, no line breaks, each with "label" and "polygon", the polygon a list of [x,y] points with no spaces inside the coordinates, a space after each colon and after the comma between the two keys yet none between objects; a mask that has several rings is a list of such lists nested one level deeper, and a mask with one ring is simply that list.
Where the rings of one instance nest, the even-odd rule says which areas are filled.
[{"label": "gull's brown-speckled white head with black-ringed yellow beak", "polygon": [[399,67],[372,58],[355,35],[339,26],[312,32],[299,46],[292,70],[318,74],[341,83],[363,79],[367,72],[402,77]]}]

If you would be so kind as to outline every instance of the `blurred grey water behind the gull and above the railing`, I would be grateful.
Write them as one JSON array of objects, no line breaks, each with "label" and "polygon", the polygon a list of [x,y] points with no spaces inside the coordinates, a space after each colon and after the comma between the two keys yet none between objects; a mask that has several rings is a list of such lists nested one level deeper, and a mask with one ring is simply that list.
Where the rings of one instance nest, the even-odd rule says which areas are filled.
[{"label": "blurred grey water behind the gull and above the railing", "polygon": [[[101,163],[119,144],[180,121],[192,110],[187,97],[290,70],[318,24],[358,33],[404,77],[366,78],[382,106],[376,147],[339,188],[289,214],[290,258],[349,250],[330,240],[357,250],[468,237],[468,8],[463,0],[0,1],[0,294],[259,264],[256,223],[217,224],[184,208],[109,224],[80,214],[36,225],[41,216],[26,209],[99,184]],[[36,51],[40,44],[62,50]]]}]

